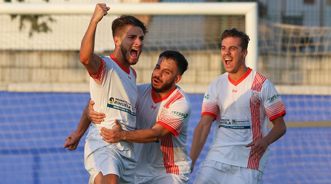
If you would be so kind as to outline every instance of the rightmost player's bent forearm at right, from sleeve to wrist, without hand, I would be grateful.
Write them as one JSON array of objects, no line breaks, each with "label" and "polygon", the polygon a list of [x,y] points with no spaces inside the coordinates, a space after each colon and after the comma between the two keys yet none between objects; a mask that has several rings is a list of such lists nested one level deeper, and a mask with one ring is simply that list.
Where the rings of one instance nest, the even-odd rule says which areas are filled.
[{"label": "rightmost player's bent forearm at right, from sleeve to wrist, without hand", "polygon": [[286,125],[283,117],[274,119],[272,123],[274,124],[274,127],[270,130],[268,135],[264,137],[268,145],[271,145],[273,142],[278,140],[286,132]]}]

